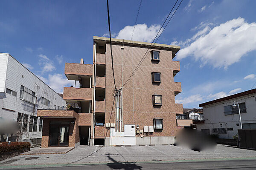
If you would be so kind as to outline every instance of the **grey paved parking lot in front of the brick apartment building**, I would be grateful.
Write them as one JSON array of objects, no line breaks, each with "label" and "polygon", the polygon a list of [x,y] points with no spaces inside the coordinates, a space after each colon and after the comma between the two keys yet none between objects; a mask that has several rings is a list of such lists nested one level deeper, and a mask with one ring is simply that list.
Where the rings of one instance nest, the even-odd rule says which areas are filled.
[{"label": "grey paved parking lot in front of the brick apartment building", "polygon": [[0,161],[0,168],[15,165],[88,164],[109,162],[175,161],[221,158],[256,158],[256,150],[218,144],[215,150],[193,151],[172,145],[94,146],[80,145],[66,154],[20,155]]}]

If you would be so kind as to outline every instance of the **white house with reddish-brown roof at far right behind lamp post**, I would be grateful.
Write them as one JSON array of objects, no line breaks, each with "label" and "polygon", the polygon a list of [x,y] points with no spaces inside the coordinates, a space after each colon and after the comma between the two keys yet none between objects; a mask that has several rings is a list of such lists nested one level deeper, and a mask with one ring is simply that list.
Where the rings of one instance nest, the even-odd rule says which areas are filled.
[{"label": "white house with reddish-brown roof at far right behind lamp post", "polygon": [[239,103],[243,129],[256,129],[256,89],[199,104],[204,110],[204,124],[197,124],[197,129],[219,138],[233,138],[241,129],[239,109],[232,107],[234,101]]}]

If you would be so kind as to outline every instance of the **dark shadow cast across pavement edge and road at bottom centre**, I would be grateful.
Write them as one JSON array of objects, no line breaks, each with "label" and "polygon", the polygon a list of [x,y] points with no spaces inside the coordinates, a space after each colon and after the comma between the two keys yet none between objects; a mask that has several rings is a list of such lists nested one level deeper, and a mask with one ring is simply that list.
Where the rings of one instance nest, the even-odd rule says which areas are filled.
[{"label": "dark shadow cast across pavement edge and road at bottom centre", "polygon": [[135,164],[135,162],[118,162],[111,158],[110,154],[108,153],[108,159],[113,161],[113,163],[108,163],[108,167],[114,170],[120,170],[120,169],[125,169],[125,170],[141,170],[142,167],[138,166]]}]

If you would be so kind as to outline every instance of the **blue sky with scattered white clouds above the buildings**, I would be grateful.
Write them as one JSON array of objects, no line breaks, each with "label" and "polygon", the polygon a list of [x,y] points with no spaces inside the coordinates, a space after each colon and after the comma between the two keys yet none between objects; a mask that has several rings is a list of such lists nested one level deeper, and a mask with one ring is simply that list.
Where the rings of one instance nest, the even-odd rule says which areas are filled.
[{"label": "blue sky with scattered white clouds above the buildings", "polygon": [[[109,0],[111,37],[151,42],[176,0]],[[64,63],[92,64],[93,36],[108,37],[106,0],[3,0],[0,52],[56,92],[74,84]],[[178,1],[180,3],[180,0]],[[178,45],[183,108],[256,88],[256,1],[183,0],[157,43]],[[176,9],[176,8],[175,8]],[[162,31],[162,30],[161,30]]]}]

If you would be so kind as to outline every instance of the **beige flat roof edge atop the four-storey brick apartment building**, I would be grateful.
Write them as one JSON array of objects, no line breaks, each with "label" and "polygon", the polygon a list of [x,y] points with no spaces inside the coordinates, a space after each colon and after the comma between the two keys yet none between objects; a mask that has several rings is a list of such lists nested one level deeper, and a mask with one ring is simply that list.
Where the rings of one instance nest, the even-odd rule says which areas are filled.
[{"label": "beige flat roof edge atop the four-storey brick apartment building", "polygon": [[[97,36],[93,36],[93,40],[107,41],[107,42],[110,41],[110,39],[108,37],[97,37]],[[111,42],[133,44],[133,45],[140,45],[140,46],[151,46],[151,43],[147,43],[147,42],[122,40],[122,39],[116,39],[116,38],[111,38]],[[158,47],[158,48],[164,48],[164,49],[172,49],[173,52],[178,52],[180,49],[180,46],[173,46],[173,45],[159,44],[159,43],[154,43],[154,45],[152,45],[152,46]]]}]

